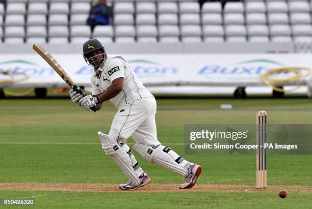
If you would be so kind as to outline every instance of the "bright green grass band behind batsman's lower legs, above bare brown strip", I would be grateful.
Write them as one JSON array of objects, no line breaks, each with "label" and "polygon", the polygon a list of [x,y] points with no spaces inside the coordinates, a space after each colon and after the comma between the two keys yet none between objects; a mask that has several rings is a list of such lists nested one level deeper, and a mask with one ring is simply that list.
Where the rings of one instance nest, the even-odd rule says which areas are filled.
[{"label": "bright green grass band behind batsman's lower legs, above bare brown strip", "polygon": [[[187,156],[183,145],[170,147],[186,159],[203,166],[199,181],[201,184],[254,184],[255,157],[252,155]],[[183,180],[180,175],[147,163],[135,154],[141,166],[152,177],[153,183],[181,183]],[[269,156],[268,184],[312,185],[311,168],[305,166],[309,160],[310,156]],[[1,162],[0,182],[126,181],[114,161],[103,153],[100,144],[1,144]]]}]

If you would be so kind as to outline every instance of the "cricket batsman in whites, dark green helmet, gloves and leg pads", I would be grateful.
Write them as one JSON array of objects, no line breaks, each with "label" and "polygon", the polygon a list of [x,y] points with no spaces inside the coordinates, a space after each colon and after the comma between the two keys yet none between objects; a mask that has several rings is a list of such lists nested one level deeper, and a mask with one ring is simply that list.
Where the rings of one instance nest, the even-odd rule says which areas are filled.
[{"label": "cricket batsman in whites, dark green helmet, gloves and leg pads", "polygon": [[110,100],[116,107],[109,134],[98,132],[105,153],[111,156],[129,182],[120,184],[122,190],[135,190],[150,182],[131,149],[126,144],[132,136],[133,148],[150,163],[158,163],[185,177],[180,189],[192,188],[201,172],[201,166],[180,157],[157,138],[155,123],[156,101],[137,78],[129,64],[120,55],[108,55],[97,39],[83,45],[83,56],[94,67],[91,76],[92,95],[85,96],[84,87],[70,90],[70,98],[85,110],[100,110]]}]

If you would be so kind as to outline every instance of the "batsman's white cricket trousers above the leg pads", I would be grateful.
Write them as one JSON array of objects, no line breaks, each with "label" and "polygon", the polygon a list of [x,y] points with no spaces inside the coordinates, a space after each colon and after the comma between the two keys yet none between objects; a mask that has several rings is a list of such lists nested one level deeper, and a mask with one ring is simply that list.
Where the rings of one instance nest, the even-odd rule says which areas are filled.
[{"label": "batsman's white cricket trousers above the leg pads", "polygon": [[109,136],[118,144],[133,137],[137,144],[158,145],[155,98],[147,97],[122,105],[114,116]]}]

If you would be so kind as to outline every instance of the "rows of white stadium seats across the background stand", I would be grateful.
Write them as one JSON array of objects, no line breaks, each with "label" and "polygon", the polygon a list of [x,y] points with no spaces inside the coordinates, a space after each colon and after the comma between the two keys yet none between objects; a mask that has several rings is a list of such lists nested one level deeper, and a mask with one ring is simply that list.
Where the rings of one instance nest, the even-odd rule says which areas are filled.
[{"label": "rows of white stadium seats across the background stand", "polygon": [[80,43],[88,37],[105,43],[310,42],[312,37],[311,1],[245,0],[224,8],[205,2],[200,8],[195,0],[110,0],[112,25],[96,26],[92,34],[86,21],[95,2],[9,0],[6,8],[0,4],[0,42]]}]

